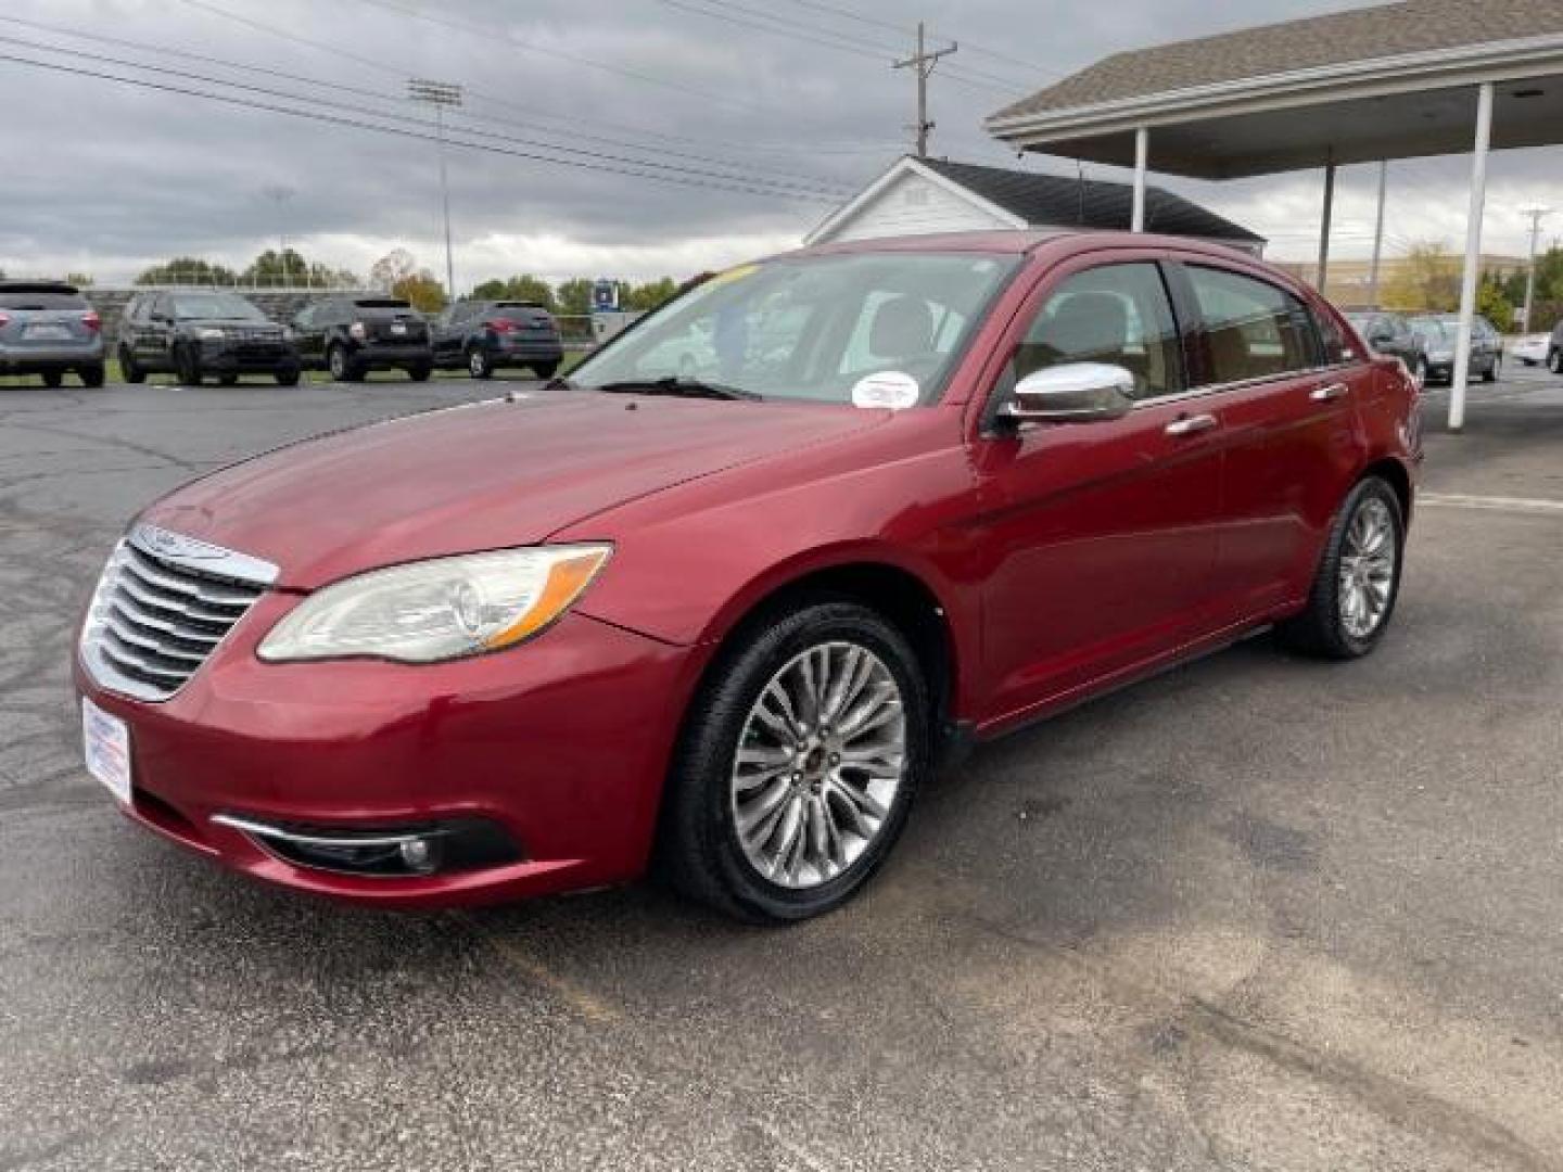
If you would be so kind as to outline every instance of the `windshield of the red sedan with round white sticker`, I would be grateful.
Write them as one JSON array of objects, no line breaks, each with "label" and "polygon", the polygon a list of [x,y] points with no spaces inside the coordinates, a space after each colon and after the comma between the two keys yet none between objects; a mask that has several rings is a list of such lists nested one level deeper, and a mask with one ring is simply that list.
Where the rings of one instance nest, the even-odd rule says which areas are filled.
[{"label": "windshield of the red sedan with round white sticker", "polygon": [[764,398],[932,403],[1019,263],[847,253],[744,264],[636,323],[570,381],[596,389],[685,378]]}]

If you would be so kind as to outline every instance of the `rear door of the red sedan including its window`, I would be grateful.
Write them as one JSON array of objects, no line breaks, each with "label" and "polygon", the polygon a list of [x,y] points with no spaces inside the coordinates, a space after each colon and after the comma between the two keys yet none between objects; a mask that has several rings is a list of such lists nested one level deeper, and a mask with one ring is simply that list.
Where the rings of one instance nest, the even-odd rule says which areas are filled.
[{"label": "rear door of the red sedan including its window", "polygon": [[1352,402],[1371,389],[1372,367],[1339,347],[1327,353],[1314,308],[1263,270],[1189,259],[1174,280],[1197,322],[1200,381],[1221,391],[1227,463],[1211,603],[1243,622],[1311,583],[1360,466]]}]

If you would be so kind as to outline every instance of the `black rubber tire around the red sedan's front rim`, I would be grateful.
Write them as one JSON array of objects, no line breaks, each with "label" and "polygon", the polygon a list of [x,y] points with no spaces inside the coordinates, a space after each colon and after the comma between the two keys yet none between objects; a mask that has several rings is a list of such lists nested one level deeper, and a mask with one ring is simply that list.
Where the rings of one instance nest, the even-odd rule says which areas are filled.
[{"label": "black rubber tire around the red sedan's front rim", "polygon": [[[888,814],[835,878],[786,888],[761,875],[742,850],[730,777],[749,713],[772,677],[810,647],[852,642],[872,652],[900,689],[905,767]],[[689,706],[656,841],[658,872],[685,895],[756,924],[802,920],[849,900],[896,844],[930,761],[928,686],[905,636],[875,611],[821,599],[752,622],[713,664]]]}]

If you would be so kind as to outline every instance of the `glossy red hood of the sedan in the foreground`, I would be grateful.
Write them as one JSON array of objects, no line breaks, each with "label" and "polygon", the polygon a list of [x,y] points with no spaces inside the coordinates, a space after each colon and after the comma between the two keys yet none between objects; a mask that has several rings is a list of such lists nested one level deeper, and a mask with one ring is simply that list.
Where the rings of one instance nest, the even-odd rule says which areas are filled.
[{"label": "glossy red hood of the sedan in the foreground", "polygon": [[175,491],[142,519],[264,558],[283,588],[314,589],[377,566],[541,542],[614,505],[889,414],[536,392],[278,448]]}]

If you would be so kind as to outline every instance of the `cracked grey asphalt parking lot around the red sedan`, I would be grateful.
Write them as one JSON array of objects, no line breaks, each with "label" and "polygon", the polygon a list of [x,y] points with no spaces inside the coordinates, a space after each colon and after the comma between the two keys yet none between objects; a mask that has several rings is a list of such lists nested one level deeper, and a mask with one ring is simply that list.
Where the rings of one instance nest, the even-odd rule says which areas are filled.
[{"label": "cracked grey asphalt parking lot around the red sedan", "polygon": [[0,1169],[1563,1169],[1563,380],[1430,397],[1375,656],[991,745],[797,928],[344,909],[120,819],[67,664],[128,514],[489,394],[0,388]]}]

